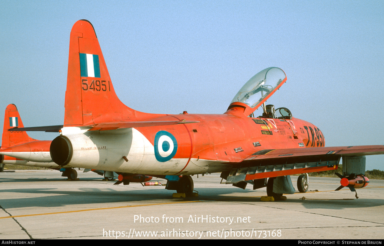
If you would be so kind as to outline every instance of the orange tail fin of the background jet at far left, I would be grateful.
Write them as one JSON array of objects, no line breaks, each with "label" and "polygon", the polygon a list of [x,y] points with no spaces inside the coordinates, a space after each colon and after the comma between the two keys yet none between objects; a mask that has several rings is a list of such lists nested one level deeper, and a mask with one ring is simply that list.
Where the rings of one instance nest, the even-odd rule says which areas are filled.
[{"label": "orange tail fin of the background jet at far left", "polygon": [[20,118],[19,112],[15,104],[9,104],[5,109],[4,116],[4,127],[3,127],[3,137],[2,137],[2,148],[8,148],[13,145],[22,144],[25,142],[36,141],[36,139],[31,138],[22,131],[8,131],[8,129],[13,127],[24,127],[22,119]]}]

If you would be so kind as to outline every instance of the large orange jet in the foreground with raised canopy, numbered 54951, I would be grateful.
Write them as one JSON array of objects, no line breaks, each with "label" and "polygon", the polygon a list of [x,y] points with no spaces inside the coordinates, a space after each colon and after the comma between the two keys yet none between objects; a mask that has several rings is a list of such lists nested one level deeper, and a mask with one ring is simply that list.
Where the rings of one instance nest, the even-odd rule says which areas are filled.
[{"label": "large orange jet in the foreground with raised canopy, numbered 54951", "polygon": [[[302,174],[298,189],[305,192],[306,173],[336,170],[342,156],[342,186],[366,186],[364,155],[383,154],[384,146],[324,147],[318,127],[287,108],[264,105],[285,81],[280,68],[262,70],[224,114],[135,111],[116,96],[92,24],[79,20],[70,36],[64,125],[19,130],[60,132],[50,146],[60,166],[144,173],[167,179],[166,189],[187,195],[194,190],[190,175],[221,172],[226,184],[266,186],[268,196],[278,199],[295,192],[289,175]],[[263,115],[254,117],[260,106]]]}]

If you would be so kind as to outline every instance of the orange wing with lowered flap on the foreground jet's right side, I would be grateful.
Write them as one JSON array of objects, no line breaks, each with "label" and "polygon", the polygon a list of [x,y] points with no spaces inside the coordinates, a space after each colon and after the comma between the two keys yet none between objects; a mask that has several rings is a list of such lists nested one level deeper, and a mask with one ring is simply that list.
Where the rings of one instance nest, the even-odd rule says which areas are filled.
[{"label": "orange wing with lowered flap on the foreground jet's right side", "polygon": [[342,156],[382,154],[384,145],[260,150],[240,162],[230,163],[236,168],[228,171],[226,183],[335,170]]}]

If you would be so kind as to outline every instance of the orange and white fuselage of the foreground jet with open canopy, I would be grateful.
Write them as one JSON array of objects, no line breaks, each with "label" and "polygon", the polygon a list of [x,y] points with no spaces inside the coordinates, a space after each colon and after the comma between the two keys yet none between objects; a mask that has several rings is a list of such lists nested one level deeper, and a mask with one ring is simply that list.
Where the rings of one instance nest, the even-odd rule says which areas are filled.
[{"label": "orange and white fuselage of the foreground jet with open canopy", "polygon": [[318,127],[295,118],[177,114],[148,121],[175,119],[199,122],[104,131],[63,128],[73,148],[66,164],[123,173],[200,174],[229,169],[260,150],[324,146]]}]

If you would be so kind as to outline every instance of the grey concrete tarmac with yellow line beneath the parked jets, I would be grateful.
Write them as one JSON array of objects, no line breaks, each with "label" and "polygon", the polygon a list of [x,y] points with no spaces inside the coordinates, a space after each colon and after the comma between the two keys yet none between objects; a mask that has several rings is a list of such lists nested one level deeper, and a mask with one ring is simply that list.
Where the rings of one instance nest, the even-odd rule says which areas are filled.
[{"label": "grey concrete tarmac with yellow line beneath the parked jets", "polygon": [[357,189],[356,199],[348,188],[334,191],[338,178],[310,177],[308,192],[262,202],[265,188],[220,184],[220,174],[193,176],[199,197],[187,199],[172,198],[164,186],[113,185],[91,172],[78,178],[66,181],[55,170],[0,173],[0,239],[384,238],[383,180]]}]

